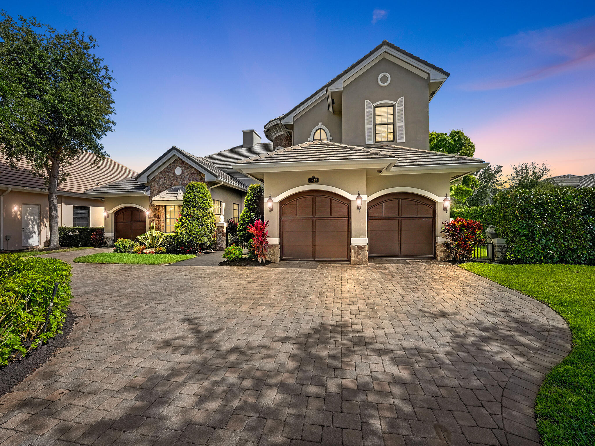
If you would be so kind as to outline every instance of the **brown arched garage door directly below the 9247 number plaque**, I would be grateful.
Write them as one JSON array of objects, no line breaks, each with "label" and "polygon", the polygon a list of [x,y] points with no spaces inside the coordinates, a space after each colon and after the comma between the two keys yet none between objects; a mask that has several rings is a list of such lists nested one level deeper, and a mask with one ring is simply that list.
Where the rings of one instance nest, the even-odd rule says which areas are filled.
[{"label": "brown arched garage door directly below the 9247 number plaque", "polygon": [[349,260],[349,200],[300,192],[280,203],[281,259]]}]

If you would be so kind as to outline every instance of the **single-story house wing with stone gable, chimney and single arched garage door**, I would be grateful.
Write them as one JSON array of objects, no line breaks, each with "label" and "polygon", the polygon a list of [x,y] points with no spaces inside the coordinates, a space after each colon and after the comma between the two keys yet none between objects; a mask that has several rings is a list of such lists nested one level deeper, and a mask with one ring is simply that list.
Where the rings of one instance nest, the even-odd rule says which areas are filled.
[{"label": "single-story house wing with stone gable, chimney and single arched garage door", "polygon": [[271,143],[261,143],[254,130],[243,130],[241,146],[209,156],[195,156],[178,147],[163,155],[133,178],[87,190],[84,195],[105,200],[105,240],[134,238],[151,223],[165,233],[173,233],[191,181],[208,186],[217,222],[239,218],[252,178],[233,169],[238,159],[270,152]]}]

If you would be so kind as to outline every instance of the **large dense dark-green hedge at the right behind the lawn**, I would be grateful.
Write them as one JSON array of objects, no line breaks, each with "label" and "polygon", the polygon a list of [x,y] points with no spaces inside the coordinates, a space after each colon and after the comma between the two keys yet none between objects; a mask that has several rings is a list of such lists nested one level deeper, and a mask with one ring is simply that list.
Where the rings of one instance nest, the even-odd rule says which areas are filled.
[{"label": "large dense dark-green hedge at the right behind the lawn", "polygon": [[595,189],[512,190],[496,205],[509,259],[595,265]]}]

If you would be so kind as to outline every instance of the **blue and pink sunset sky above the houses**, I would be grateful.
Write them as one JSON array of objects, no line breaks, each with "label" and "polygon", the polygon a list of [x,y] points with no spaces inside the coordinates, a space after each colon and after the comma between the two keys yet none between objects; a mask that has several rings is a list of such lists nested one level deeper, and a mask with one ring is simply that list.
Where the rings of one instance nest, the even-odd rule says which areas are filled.
[{"label": "blue and pink sunset sky above the houses", "polygon": [[[486,7],[488,5],[488,7]],[[109,155],[140,170],[176,145],[242,142],[387,39],[449,71],[430,130],[476,156],[595,172],[595,2],[5,2],[98,39],[117,79]]]}]

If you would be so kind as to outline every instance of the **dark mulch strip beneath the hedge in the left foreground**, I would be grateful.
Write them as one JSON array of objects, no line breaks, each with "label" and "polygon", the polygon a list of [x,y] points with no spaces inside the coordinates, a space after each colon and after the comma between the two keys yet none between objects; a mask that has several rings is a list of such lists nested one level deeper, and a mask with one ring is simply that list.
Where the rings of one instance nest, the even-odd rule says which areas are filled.
[{"label": "dark mulch strip beneath the hedge in the left foreground", "polygon": [[45,364],[58,347],[65,346],[68,334],[73,329],[74,319],[76,316],[71,310],[68,310],[64,325],[62,325],[62,334],[55,335],[45,345],[30,351],[23,359],[10,362],[0,368],[0,397],[10,392],[15,385]]}]

